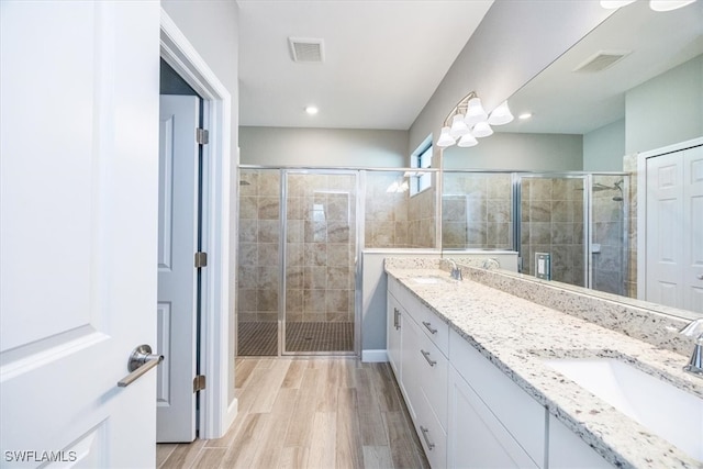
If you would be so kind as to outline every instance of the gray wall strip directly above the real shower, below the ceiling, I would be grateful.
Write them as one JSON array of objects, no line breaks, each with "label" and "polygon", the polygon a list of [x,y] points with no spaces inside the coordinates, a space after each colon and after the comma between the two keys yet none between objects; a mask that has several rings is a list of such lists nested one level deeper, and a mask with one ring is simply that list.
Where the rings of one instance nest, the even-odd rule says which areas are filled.
[{"label": "gray wall strip directly above the real shower, below the ceiling", "polygon": [[241,127],[241,163],[266,166],[405,167],[408,132]]}]

